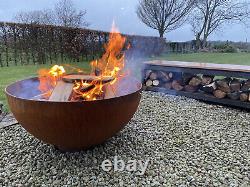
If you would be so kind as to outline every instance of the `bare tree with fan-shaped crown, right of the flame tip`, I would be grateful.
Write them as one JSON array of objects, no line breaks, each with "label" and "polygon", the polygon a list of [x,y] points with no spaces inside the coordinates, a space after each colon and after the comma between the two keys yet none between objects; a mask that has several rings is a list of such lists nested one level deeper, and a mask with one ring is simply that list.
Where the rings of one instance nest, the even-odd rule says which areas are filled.
[{"label": "bare tree with fan-shaped crown, right of the flame tip", "polygon": [[164,33],[181,27],[195,0],[140,0],[137,16],[147,26]]}]

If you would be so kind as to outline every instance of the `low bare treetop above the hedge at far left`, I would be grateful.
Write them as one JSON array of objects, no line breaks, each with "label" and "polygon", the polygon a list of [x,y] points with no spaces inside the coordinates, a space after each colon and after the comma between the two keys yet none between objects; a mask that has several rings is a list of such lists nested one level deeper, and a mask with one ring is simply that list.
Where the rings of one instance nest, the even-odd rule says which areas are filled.
[{"label": "low bare treetop above the hedge at far left", "polygon": [[15,15],[14,21],[31,24],[55,24],[54,13],[50,9],[19,12]]}]

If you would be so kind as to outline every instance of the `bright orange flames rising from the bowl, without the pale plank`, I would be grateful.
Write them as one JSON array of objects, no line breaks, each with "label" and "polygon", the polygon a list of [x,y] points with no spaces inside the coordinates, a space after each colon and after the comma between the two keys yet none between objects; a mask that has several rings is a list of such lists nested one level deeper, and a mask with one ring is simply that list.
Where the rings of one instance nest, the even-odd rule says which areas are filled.
[{"label": "bright orange flames rising from the bowl, without the pale plank", "polygon": [[[126,38],[123,37],[118,29],[112,26],[112,31],[109,36],[109,42],[104,46],[105,53],[103,56],[90,63],[91,76],[95,79],[92,81],[75,81],[72,93],[72,101],[86,100],[93,101],[105,98],[105,92],[111,91],[115,95],[115,85],[118,80],[125,76],[125,55],[122,51],[125,49]],[[67,65],[68,66],[68,65]],[[77,71],[77,74],[85,72],[80,68],[71,68]],[[55,88],[57,82],[66,75],[63,66],[55,65],[50,70],[39,71],[39,90],[42,93],[48,93],[47,98]],[[111,81],[105,82],[107,78]]]}]

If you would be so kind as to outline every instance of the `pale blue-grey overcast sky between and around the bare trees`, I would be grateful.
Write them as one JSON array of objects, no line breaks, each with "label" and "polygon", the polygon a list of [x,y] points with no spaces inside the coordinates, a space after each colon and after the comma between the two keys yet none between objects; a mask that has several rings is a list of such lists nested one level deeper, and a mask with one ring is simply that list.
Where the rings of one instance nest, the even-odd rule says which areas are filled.
[{"label": "pale blue-grey overcast sky between and around the bare trees", "polygon": [[[0,20],[12,21],[19,11],[53,8],[58,0],[0,0]],[[157,31],[148,28],[137,18],[135,10],[138,0],[73,0],[78,9],[86,9],[86,19],[90,28],[109,31],[114,19],[120,31],[127,34],[158,36]],[[167,33],[167,40],[187,41],[194,39],[189,25]],[[241,25],[226,26],[223,32],[210,37],[210,40],[246,41],[250,28]]]}]

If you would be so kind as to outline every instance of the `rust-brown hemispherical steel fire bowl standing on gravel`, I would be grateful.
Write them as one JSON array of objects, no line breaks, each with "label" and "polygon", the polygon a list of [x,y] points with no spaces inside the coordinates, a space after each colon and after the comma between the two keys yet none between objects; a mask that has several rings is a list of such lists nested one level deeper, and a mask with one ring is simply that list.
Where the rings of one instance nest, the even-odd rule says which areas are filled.
[{"label": "rust-brown hemispherical steel fire bowl standing on gravel", "polygon": [[63,151],[87,149],[114,136],[136,112],[142,88],[133,79],[129,93],[111,99],[52,102],[31,99],[41,94],[38,85],[38,78],[9,85],[10,110],[30,134]]}]

